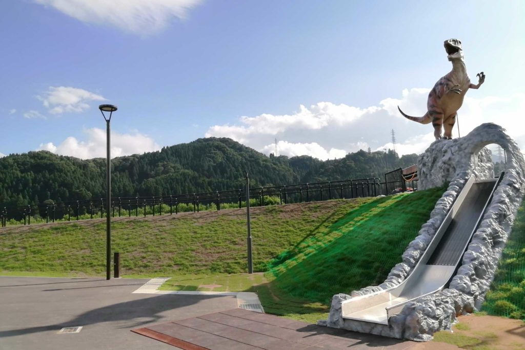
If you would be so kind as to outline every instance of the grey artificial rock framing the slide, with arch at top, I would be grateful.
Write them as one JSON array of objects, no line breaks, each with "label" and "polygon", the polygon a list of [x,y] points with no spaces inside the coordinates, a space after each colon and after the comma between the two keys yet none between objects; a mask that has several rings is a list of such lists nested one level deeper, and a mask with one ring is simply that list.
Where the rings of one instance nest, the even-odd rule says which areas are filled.
[{"label": "grey artificial rock framing the slide, with arch at top", "polygon": [[[388,320],[388,326],[345,320],[341,302],[352,296],[388,289],[400,284],[415,267],[417,261],[434,237],[467,179],[493,177],[488,144],[499,144],[507,155],[505,176],[492,198],[487,211],[466,253],[457,275],[448,289],[417,299]],[[460,314],[479,309],[490,287],[495,270],[510,233],[514,215],[525,193],[525,162],[516,145],[501,126],[487,123],[478,126],[467,136],[455,140],[438,140],[418,158],[419,189],[441,186],[449,182],[443,196],[437,201],[430,219],[409,243],[402,262],[377,286],[353,291],[350,295],[336,294],[328,320],[319,324],[416,341],[428,341],[439,330],[449,329]]]}]

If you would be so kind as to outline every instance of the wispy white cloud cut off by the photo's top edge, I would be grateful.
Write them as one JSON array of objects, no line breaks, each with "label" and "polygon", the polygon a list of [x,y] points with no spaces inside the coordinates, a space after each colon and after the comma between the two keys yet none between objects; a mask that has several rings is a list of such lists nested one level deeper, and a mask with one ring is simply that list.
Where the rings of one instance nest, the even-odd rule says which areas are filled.
[{"label": "wispy white cloud cut off by the photo's top edge", "polygon": [[159,33],[201,0],[35,0],[81,22],[111,25],[128,33]]}]

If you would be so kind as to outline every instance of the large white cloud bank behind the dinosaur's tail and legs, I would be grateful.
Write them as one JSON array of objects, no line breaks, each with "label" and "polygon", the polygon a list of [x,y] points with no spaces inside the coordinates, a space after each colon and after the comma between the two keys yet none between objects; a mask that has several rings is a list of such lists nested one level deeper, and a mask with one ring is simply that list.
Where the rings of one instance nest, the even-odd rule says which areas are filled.
[{"label": "large white cloud bank behind the dinosaur's tail and legs", "polygon": [[[311,155],[320,159],[344,156],[359,149],[393,148],[391,130],[396,136],[398,154],[422,153],[434,141],[432,124],[419,124],[403,118],[399,105],[410,115],[426,113],[430,89],[405,89],[401,98],[386,98],[367,108],[320,102],[310,108],[300,106],[290,114],[243,116],[235,124],[214,125],[206,137],[230,137],[266,154],[275,152],[277,138],[279,155]],[[482,123],[497,123],[525,150],[525,94],[480,96],[469,91],[459,110],[460,134],[466,135]],[[453,137],[457,137],[457,125]]]}]

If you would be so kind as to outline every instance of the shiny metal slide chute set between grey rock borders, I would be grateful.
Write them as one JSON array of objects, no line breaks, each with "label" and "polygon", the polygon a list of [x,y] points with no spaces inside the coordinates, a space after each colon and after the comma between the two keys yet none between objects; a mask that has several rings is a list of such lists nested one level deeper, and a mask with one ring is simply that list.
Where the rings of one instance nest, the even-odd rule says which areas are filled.
[{"label": "shiny metal slide chute set between grey rock borders", "polygon": [[394,288],[344,301],[343,318],[388,324],[388,318],[399,313],[405,303],[446,288],[459,267],[499,179],[475,182],[474,177],[470,177],[413,272]]}]

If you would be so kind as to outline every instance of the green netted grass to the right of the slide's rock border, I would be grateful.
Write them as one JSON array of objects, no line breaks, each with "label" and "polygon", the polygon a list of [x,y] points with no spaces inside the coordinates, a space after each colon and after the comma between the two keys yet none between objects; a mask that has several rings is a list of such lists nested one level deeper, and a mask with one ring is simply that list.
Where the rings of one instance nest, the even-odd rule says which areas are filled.
[{"label": "green netted grass to the right of the slide's rock border", "polygon": [[482,310],[525,321],[525,201],[518,210]]}]

